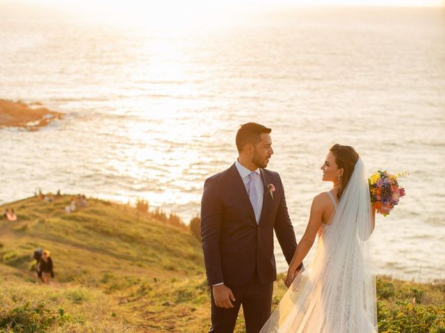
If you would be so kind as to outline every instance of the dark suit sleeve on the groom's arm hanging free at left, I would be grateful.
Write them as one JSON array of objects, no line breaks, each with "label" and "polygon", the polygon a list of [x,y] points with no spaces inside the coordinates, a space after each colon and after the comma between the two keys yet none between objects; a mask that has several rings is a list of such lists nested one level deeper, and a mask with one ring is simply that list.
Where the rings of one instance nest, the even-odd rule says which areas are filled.
[{"label": "dark suit sleeve on the groom's arm hanging free at left", "polygon": [[218,184],[209,178],[204,182],[201,201],[201,243],[209,285],[224,282],[220,256],[220,233],[223,224],[223,200]]}]

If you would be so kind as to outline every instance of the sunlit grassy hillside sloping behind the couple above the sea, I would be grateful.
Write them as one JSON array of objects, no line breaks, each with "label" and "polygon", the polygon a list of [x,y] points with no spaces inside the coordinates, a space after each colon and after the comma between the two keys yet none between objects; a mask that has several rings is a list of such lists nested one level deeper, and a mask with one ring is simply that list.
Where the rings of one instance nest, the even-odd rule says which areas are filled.
[{"label": "sunlit grassy hillside sloping behind the couple above the sea", "polygon": [[[133,207],[38,198],[0,221],[0,332],[207,332],[209,293],[199,241]],[[56,278],[35,283],[30,256],[51,250]],[[275,284],[274,304],[285,291]],[[378,279],[380,332],[445,333],[445,284]],[[13,325],[13,326],[12,326]],[[15,325],[15,326],[14,326]],[[236,332],[243,331],[240,318]]]}]

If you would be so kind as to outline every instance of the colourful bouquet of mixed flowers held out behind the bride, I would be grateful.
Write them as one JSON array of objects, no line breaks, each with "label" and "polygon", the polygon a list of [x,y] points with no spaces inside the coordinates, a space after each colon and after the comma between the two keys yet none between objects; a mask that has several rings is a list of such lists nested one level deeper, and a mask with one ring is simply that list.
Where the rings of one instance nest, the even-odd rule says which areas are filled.
[{"label": "colourful bouquet of mixed flowers held out behind the bride", "polygon": [[405,196],[405,189],[398,184],[398,178],[406,176],[407,171],[392,175],[388,171],[376,171],[368,178],[371,203],[375,210],[387,216],[398,204],[398,200]]}]

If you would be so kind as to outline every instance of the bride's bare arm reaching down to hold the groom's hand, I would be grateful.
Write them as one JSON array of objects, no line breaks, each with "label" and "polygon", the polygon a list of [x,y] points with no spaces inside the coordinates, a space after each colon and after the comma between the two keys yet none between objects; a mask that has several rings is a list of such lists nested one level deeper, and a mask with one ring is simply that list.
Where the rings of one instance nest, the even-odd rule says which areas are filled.
[{"label": "bride's bare arm reaching down to hold the groom's hand", "polygon": [[[309,222],[307,223],[305,234],[301,237],[298,247],[293,254],[291,264],[289,264],[288,278],[286,280],[293,280],[298,266],[305,259],[307,253],[312,248],[318,229],[321,227],[323,217],[323,198],[321,194],[318,194],[312,200],[311,214],[309,216]],[[292,281],[290,281],[292,282]]]}]

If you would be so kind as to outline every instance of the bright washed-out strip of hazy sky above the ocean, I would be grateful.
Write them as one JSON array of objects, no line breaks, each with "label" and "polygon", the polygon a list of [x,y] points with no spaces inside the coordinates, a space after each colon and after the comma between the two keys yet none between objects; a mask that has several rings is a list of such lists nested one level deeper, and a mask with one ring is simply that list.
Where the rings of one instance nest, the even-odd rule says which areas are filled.
[{"label": "bright washed-out strip of hazy sky above the ocean", "polygon": [[[21,6],[28,3],[33,6]],[[33,15],[51,16],[52,10],[83,15],[94,21],[113,19],[123,24],[191,26],[217,24],[237,15],[289,6],[444,6],[445,0],[0,0]],[[36,9],[43,10],[35,14]],[[444,7],[445,8],[445,7]],[[29,10],[25,10],[29,9]],[[58,14],[54,14],[58,15]],[[219,21],[218,21],[219,20]]]}]

